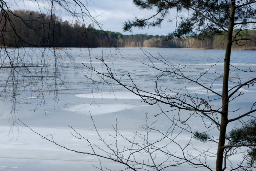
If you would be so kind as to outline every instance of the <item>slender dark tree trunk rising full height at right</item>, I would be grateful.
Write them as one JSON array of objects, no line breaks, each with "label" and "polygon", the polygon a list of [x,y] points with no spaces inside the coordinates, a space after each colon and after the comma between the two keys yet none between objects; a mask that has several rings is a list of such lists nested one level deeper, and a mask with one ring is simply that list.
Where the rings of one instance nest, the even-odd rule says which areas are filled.
[{"label": "slender dark tree trunk rising full height at right", "polygon": [[[224,59],[224,73],[223,73],[223,86],[222,86],[222,115],[220,125],[220,137],[216,159],[216,171],[223,170],[223,155],[224,146],[226,140],[226,129],[228,125],[228,111],[229,111],[229,98],[228,98],[228,85],[229,85],[229,70],[230,70],[230,56],[232,47],[232,34],[234,29],[234,17],[235,17],[235,0],[231,1],[230,7],[230,19],[229,30],[227,32],[227,45]],[[225,168],[226,166],[224,166]]]}]

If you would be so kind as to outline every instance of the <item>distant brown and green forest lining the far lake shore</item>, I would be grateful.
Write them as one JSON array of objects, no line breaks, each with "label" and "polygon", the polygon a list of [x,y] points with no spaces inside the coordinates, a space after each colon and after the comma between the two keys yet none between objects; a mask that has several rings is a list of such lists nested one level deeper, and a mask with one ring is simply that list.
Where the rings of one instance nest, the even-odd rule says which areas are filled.
[{"label": "distant brown and green forest lining the far lake shore", "polygon": [[[85,26],[79,21],[69,23],[57,16],[35,11],[14,11],[10,22],[1,16],[1,47],[43,46],[43,47],[155,47],[155,48],[196,48],[225,49],[225,35],[208,33],[184,37],[183,40],[164,41],[166,36],[136,34],[123,35],[119,32],[102,31],[93,25]],[[1,14],[2,15],[2,14]],[[4,27],[5,26],[5,27]],[[13,30],[16,30],[14,32]],[[243,31],[240,36],[256,37],[256,30]],[[199,39],[198,39],[199,38]],[[200,40],[204,38],[203,40]],[[256,40],[255,40],[256,41]],[[256,42],[239,42],[233,46],[237,50],[256,50]]]}]

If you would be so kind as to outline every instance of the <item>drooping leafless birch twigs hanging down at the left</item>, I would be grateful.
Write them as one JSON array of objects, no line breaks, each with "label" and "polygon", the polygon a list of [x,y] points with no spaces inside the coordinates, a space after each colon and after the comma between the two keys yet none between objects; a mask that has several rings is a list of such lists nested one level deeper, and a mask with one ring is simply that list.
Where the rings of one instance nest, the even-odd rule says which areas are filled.
[{"label": "drooping leafless birch twigs hanging down at the left", "polygon": [[[25,92],[28,97],[38,97],[38,105],[43,106],[46,94],[53,93],[57,105],[59,88],[66,89],[65,78],[61,76],[62,64],[75,65],[75,59],[70,54],[68,45],[60,47],[59,37],[69,42],[80,42],[80,47],[85,45],[90,56],[89,42],[92,39],[86,26],[95,24],[101,29],[101,24],[87,10],[86,1],[46,0],[42,3],[43,5],[34,0],[0,1],[0,69],[7,76],[3,78],[6,84],[0,91],[1,94],[11,92],[13,95],[11,130],[18,126],[16,114],[21,92]],[[31,5],[39,12],[21,10]],[[66,21],[60,25],[63,16]],[[66,32],[61,32],[60,27],[66,29]],[[70,33],[70,27],[77,32]],[[103,30],[102,34],[105,34]],[[74,40],[77,37],[80,41]],[[29,87],[30,92],[24,87]]]}]

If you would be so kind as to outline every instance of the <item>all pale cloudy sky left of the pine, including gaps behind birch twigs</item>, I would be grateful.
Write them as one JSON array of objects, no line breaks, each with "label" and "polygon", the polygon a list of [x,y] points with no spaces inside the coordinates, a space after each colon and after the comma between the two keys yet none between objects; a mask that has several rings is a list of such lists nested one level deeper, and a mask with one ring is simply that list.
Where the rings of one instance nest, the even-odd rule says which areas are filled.
[{"label": "all pale cloudy sky left of the pine, including gaps behind birch twigs", "polygon": [[[31,1],[31,0],[13,0],[14,3],[9,1],[10,7],[18,9],[25,9],[29,11],[39,11],[38,4],[44,6],[45,10],[49,10],[50,7],[47,6],[45,2],[47,1]],[[168,33],[174,31],[175,23],[165,21],[161,28],[145,28],[138,29],[134,28],[133,32],[124,32],[122,27],[123,23],[128,20],[133,20],[135,16],[150,17],[155,14],[154,11],[144,10],[141,11],[132,2],[132,0],[80,0],[80,2],[85,2],[87,5],[87,10],[90,14],[95,17],[95,19],[102,24],[104,30],[120,32],[122,34],[152,34],[152,35],[167,35]],[[35,3],[36,2],[36,3]],[[50,1],[49,1],[50,2]],[[16,7],[14,7],[16,6]],[[56,8],[56,7],[55,7]],[[41,9],[42,11],[42,9]],[[42,11],[44,12],[44,11]],[[44,12],[45,13],[45,12]],[[46,12],[47,14],[47,12]],[[58,15],[58,14],[57,14]],[[64,12],[61,14],[62,19],[65,20]],[[173,15],[175,16],[175,12]],[[166,19],[167,20],[167,19]],[[95,28],[97,28],[95,26]]]}]

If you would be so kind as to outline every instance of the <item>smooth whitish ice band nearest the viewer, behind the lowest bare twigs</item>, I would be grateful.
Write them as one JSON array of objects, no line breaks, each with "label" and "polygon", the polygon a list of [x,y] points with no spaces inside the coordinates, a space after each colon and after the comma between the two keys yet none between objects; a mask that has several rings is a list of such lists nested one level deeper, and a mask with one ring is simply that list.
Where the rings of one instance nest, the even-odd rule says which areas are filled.
[{"label": "smooth whitish ice band nearest the viewer, behind the lowest bare twigs", "polygon": [[[58,127],[33,127],[34,131],[39,132],[41,135],[50,138],[53,136],[54,140],[63,145],[66,148],[74,149],[81,152],[92,152],[88,143],[85,140],[77,139],[70,133],[73,132],[70,128],[58,128]],[[0,126],[0,134],[6,134],[8,132],[8,126]],[[99,141],[98,134],[93,129],[75,129],[77,132],[81,133],[84,137],[88,138],[92,144],[97,144],[97,146],[101,149],[106,149],[104,143]],[[132,140],[134,138],[134,133],[130,130],[119,130],[120,134],[124,137]],[[3,136],[0,141],[0,170],[5,171],[16,171],[16,170],[26,170],[26,171],[34,171],[34,170],[98,170],[92,165],[96,165],[99,167],[99,159],[92,155],[79,154],[75,152],[71,152],[65,150],[64,148],[60,148],[54,146],[53,143],[50,143],[40,136],[31,136],[32,131],[27,127],[22,129],[22,133],[19,136],[19,141],[9,141],[8,136]],[[73,132],[74,133],[74,132]],[[99,130],[99,133],[104,137],[105,141],[112,142],[115,140],[112,134],[115,131],[111,130]],[[157,132],[150,132],[151,138],[157,139]],[[183,135],[177,138],[177,141],[182,143],[185,139],[189,139],[190,136]],[[137,140],[136,142],[141,142],[143,140]],[[163,146],[165,143],[160,142],[159,146]],[[118,145],[120,149],[124,147],[130,147],[128,141],[126,141],[122,137],[118,137]],[[207,146],[207,144],[203,144],[203,146]],[[95,146],[94,146],[95,147]],[[175,151],[175,146],[169,146],[169,150]],[[206,147],[207,148],[207,147]],[[97,154],[104,154],[101,150],[95,147]],[[191,149],[192,152],[193,149]],[[139,156],[137,156],[139,155]],[[148,158],[147,153],[137,154],[136,157],[138,160],[144,160]],[[156,160],[162,160],[165,155],[158,156]],[[123,169],[122,165],[119,165],[116,162],[111,160],[107,160],[101,158],[104,167],[114,168],[115,170]],[[210,162],[214,162],[210,160]],[[192,166],[187,167],[172,167],[174,170],[183,171],[192,170]],[[206,169],[200,169],[202,171]]]}]

